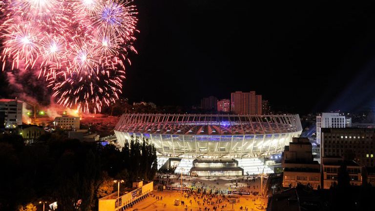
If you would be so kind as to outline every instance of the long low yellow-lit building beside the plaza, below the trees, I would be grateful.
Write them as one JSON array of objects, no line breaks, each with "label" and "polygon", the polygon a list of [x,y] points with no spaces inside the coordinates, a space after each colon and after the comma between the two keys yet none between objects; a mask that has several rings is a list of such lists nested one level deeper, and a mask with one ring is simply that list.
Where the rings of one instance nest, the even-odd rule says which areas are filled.
[{"label": "long low yellow-lit building beside the plaza, below the trees", "polygon": [[[114,192],[99,199],[99,211],[122,211],[130,208],[134,203],[146,198],[153,191],[154,183],[133,183],[132,189],[125,192]],[[120,197],[118,197],[120,195]]]}]

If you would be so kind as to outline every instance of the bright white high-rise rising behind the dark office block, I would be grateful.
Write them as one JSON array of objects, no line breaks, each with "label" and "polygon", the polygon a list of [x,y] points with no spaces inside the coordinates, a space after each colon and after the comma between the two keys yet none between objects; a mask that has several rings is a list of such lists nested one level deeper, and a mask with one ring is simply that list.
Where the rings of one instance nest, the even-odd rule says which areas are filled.
[{"label": "bright white high-rise rising behind the dark office block", "polygon": [[345,128],[345,116],[339,113],[322,113],[316,116],[316,142],[320,144],[322,128]]}]

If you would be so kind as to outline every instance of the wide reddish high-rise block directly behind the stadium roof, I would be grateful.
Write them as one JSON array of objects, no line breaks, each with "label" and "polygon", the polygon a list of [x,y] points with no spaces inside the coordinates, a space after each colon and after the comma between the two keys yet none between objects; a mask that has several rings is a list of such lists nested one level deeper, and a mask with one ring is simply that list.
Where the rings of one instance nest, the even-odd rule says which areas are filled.
[{"label": "wide reddish high-rise block directly behind the stadium roof", "polygon": [[262,96],[255,95],[255,91],[230,94],[231,111],[241,115],[262,115]]}]

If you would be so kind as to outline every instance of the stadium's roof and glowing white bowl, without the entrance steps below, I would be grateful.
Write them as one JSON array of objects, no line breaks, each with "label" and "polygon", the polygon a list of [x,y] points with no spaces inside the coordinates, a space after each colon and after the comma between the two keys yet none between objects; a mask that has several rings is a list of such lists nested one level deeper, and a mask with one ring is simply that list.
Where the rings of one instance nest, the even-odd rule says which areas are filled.
[{"label": "stadium's roof and glowing white bowl, without the entrance steps below", "polygon": [[114,131],[122,146],[138,136],[159,155],[215,158],[281,153],[302,127],[299,115],[125,114]]}]

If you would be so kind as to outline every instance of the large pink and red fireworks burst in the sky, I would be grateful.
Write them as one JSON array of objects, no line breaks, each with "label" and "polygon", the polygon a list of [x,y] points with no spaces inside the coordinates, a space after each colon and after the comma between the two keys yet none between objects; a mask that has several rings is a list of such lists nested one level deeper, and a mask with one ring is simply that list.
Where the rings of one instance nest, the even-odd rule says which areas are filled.
[{"label": "large pink and red fireworks burst in the sky", "polygon": [[100,112],[119,98],[128,52],[137,53],[131,0],[0,1],[2,70],[35,71],[56,101]]}]

